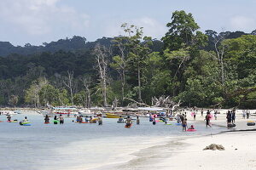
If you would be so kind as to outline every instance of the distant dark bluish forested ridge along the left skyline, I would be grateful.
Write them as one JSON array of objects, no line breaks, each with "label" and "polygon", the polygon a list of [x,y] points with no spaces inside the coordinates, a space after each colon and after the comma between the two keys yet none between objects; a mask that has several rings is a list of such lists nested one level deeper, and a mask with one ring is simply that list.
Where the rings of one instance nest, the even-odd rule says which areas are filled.
[{"label": "distant dark bluish forested ridge along the left skyline", "polygon": [[0,42],[0,56],[6,57],[10,54],[40,54],[43,52],[54,53],[57,51],[75,52],[78,50],[89,50],[93,48],[96,43],[101,43],[105,46],[110,46],[113,38],[102,37],[95,42],[86,42],[86,38],[73,36],[72,38],[60,39],[56,42],[44,42],[43,45],[34,46],[30,43],[26,43],[24,47],[14,46],[10,42]]}]

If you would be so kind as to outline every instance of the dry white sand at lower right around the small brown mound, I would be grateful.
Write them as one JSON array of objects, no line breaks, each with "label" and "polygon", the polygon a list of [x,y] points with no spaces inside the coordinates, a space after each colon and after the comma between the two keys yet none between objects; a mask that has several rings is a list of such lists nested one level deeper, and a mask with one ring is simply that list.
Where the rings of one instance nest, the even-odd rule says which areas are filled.
[{"label": "dry white sand at lower right around the small brown mound", "polygon": [[[189,123],[191,117],[189,116]],[[198,116],[198,121],[203,117]],[[240,114],[236,115],[236,130],[253,129],[247,127],[248,120],[255,120],[255,116],[250,119],[242,119]],[[212,120],[213,126],[225,126],[225,115],[218,115],[218,120]],[[174,151],[173,155],[161,163],[161,169],[183,169],[183,170],[253,170],[256,169],[256,132],[228,132],[216,135],[180,139],[183,143]],[[225,150],[203,150],[210,144],[222,144]]]}]

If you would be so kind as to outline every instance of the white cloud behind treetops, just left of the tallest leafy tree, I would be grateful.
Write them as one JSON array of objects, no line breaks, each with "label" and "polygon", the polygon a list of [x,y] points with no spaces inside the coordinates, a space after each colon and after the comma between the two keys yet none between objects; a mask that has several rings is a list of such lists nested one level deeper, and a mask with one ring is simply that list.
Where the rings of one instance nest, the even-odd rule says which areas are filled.
[{"label": "white cloud behind treetops, just left of the tallest leafy tree", "polygon": [[115,37],[118,35],[124,35],[125,32],[120,28],[123,23],[128,23],[129,25],[135,25],[137,27],[143,27],[144,36],[150,36],[158,39],[163,37],[167,31],[166,26],[159,21],[149,17],[141,17],[125,21],[108,21],[108,24],[106,24],[106,28],[104,30],[104,36]]}]

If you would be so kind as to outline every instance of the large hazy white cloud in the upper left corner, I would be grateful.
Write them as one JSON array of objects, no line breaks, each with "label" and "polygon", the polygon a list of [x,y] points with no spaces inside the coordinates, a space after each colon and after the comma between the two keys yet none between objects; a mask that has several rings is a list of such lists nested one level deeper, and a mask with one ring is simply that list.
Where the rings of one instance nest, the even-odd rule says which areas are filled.
[{"label": "large hazy white cloud in the upper left corner", "polygon": [[15,26],[29,35],[44,35],[54,31],[82,31],[90,17],[74,8],[61,6],[61,0],[0,1],[0,21]]}]

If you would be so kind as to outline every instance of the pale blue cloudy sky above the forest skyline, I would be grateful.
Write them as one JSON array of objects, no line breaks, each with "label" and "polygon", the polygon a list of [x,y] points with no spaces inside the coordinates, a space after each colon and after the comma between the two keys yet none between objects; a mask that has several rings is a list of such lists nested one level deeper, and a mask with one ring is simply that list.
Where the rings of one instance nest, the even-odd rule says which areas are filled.
[{"label": "pale blue cloudy sky above the forest skyline", "polygon": [[73,35],[95,41],[122,34],[122,23],[160,39],[172,12],[192,13],[201,31],[256,29],[256,0],[0,0],[0,41],[40,45]]}]

